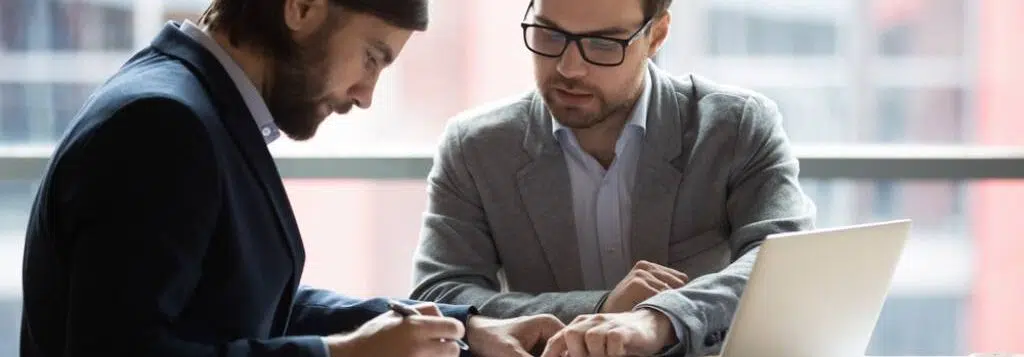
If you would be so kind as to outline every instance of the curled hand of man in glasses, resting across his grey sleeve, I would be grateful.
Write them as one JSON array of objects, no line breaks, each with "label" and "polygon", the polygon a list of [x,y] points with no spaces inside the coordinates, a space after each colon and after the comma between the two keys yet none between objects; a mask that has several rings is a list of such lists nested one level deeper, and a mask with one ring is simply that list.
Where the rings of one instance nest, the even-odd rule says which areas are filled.
[{"label": "curled hand of man in glasses, resting across his grey sleeve", "polygon": [[639,261],[629,274],[608,294],[601,313],[632,311],[637,304],[667,289],[683,287],[689,278],[675,269]]}]

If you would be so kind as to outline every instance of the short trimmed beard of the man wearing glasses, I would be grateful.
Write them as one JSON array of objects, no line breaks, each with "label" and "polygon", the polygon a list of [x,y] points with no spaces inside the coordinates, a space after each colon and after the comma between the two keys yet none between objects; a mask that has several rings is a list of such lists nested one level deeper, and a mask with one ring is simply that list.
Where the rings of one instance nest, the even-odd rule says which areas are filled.
[{"label": "short trimmed beard of the man wearing glasses", "polygon": [[[570,129],[589,129],[604,123],[615,114],[630,109],[629,99],[609,100],[598,88],[580,80],[570,80],[554,75],[545,82],[541,96],[558,124]],[[572,92],[586,92],[592,96],[587,106],[563,103],[555,96],[556,88]]]}]

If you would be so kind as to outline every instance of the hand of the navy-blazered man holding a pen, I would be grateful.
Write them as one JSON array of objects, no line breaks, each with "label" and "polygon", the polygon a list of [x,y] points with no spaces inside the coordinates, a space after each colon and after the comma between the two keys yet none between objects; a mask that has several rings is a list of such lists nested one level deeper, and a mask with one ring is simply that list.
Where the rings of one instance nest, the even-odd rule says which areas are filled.
[{"label": "hand of the navy-blazered man holding a pen", "polygon": [[461,340],[465,334],[462,322],[441,317],[433,304],[413,308],[423,315],[402,318],[389,311],[367,321],[351,333],[326,338],[331,356],[459,356],[459,346],[454,341]]}]

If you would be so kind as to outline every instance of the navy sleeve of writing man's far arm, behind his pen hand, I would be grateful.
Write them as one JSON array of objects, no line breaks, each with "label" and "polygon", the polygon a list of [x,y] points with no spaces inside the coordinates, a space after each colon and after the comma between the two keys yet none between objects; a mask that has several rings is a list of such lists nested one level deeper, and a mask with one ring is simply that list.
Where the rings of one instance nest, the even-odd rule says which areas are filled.
[{"label": "navy sleeve of writing man's far arm, behind his pen hand", "polygon": [[[420,302],[399,300],[408,305]],[[437,304],[441,314],[454,317],[463,324],[476,313],[471,306]],[[330,291],[300,286],[292,306],[289,334],[334,334],[347,332],[388,311],[387,300],[360,300],[345,297]]]}]

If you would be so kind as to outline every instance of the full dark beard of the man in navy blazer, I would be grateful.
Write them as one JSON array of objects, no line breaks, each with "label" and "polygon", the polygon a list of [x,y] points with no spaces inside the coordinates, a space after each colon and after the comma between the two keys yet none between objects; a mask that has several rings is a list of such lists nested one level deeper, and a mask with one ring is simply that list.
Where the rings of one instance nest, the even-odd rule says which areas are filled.
[{"label": "full dark beard of the man in navy blazer", "polygon": [[351,102],[332,102],[327,95],[327,48],[333,30],[324,26],[302,44],[293,43],[289,53],[274,56],[269,70],[267,108],[278,128],[293,140],[312,138],[327,116],[352,107]]}]

